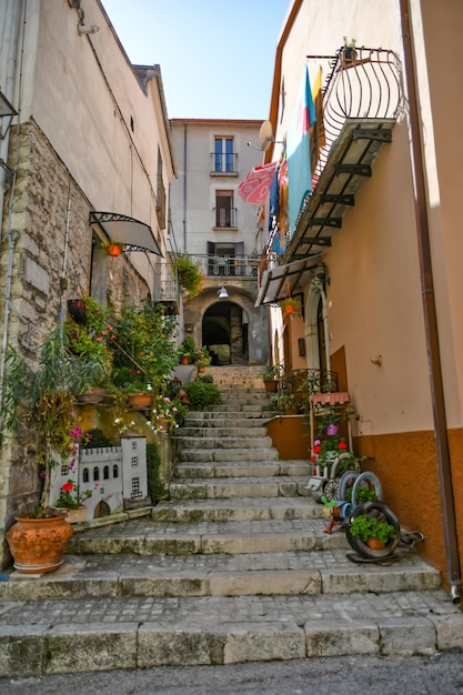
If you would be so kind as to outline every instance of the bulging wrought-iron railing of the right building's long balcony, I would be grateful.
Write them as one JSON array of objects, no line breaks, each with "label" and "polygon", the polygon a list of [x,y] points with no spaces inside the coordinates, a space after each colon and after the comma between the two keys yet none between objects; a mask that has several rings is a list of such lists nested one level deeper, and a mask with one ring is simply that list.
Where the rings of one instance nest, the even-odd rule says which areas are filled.
[{"label": "bulging wrought-iron railing of the right building's long balcony", "polygon": [[[326,58],[309,56],[308,58]],[[370,48],[340,48],[331,59],[329,74],[322,89],[322,109],[316,113],[316,142],[311,153],[316,165],[312,174],[312,189],[322,175],[330,152],[349,119],[397,120],[403,113],[401,63],[391,50]],[[315,110],[316,110],[316,103]],[[313,192],[312,190],[312,192]],[[302,205],[299,219],[310,203],[310,193]],[[281,255],[294,230],[281,235],[278,228],[269,235],[263,251],[264,265],[279,264]]]}]

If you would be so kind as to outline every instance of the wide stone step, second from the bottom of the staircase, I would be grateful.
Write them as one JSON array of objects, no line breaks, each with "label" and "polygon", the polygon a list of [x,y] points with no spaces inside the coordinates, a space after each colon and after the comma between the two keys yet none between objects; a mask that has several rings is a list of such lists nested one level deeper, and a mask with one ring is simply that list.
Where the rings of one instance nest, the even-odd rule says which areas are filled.
[{"label": "wide stone step, second from the bottom of the staircase", "polygon": [[11,572],[3,601],[95,596],[276,596],[439,588],[440,573],[397,551],[384,565],[359,573],[345,551],[242,555],[67,555],[57,572],[30,578]]}]

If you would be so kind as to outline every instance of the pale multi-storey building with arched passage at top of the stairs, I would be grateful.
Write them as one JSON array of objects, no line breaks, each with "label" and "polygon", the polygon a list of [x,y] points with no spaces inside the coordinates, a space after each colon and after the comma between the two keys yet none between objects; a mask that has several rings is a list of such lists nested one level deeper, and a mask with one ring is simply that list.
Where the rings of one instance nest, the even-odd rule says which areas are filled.
[{"label": "pale multi-storey building with arched passage at top of the stairs", "polygon": [[264,363],[266,312],[254,306],[261,207],[239,193],[262,161],[261,121],[173,119],[171,125],[178,162],[171,184],[171,249],[189,254],[204,275],[203,292],[184,298],[183,330],[198,346],[208,346],[213,364]]}]

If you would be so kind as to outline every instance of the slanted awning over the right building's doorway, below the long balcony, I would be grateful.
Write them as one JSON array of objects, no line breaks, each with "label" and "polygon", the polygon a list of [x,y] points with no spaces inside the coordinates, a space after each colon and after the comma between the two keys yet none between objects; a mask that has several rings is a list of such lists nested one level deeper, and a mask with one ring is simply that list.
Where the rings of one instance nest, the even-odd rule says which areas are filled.
[{"label": "slanted awning over the right building's doorway, below the long balcony", "polygon": [[314,275],[322,255],[311,255],[300,261],[276,265],[262,273],[261,285],[254,306],[284,300],[289,294],[299,294]]}]

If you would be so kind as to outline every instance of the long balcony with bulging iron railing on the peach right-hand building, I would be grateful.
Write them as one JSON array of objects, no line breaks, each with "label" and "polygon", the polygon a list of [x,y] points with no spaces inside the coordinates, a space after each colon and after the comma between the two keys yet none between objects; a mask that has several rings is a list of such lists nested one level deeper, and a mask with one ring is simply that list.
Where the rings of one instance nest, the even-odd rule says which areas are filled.
[{"label": "long balcony with bulging iron railing on the peach right-hand building", "polygon": [[[312,192],[305,198],[292,235],[270,235],[268,268],[319,254],[331,245],[334,230],[354,204],[363,181],[402,112],[401,66],[382,49],[341,48],[322,90],[324,144],[320,140]],[[316,58],[316,57],[311,57]],[[313,145],[312,145],[313,147]]]}]

